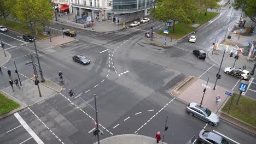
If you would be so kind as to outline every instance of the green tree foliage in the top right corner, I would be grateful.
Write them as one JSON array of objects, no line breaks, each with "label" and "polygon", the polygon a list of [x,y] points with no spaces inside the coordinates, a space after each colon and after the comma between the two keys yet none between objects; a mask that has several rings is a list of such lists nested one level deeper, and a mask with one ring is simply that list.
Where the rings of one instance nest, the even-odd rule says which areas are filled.
[{"label": "green tree foliage in the top right corner", "polygon": [[243,15],[250,17],[253,22],[256,22],[256,1],[255,0],[236,0],[232,6],[235,10],[242,10]]}]

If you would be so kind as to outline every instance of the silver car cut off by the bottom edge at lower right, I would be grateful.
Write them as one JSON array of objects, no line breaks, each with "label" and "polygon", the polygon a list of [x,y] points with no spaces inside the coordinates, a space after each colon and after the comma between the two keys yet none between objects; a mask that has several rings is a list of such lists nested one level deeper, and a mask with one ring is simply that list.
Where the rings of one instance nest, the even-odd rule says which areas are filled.
[{"label": "silver car cut off by the bottom edge at lower right", "polygon": [[202,129],[199,133],[198,140],[200,143],[209,143],[209,144],[229,144],[226,139],[222,136],[212,133],[210,131],[206,131]]}]

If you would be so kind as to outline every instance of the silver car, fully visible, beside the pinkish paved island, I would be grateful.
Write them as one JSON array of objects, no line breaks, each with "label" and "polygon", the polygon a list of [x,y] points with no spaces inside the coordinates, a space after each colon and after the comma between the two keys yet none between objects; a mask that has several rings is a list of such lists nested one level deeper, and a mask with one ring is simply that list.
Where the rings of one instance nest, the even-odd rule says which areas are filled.
[{"label": "silver car, fully visible, beside the pinkish paved island", "polygon": [[211,112],[207,107],[196,103],[190,103],[187,108],[187,112],[190,116],[195,116],[202,119],[210,125],[217,126],[219,124],[219,116]]}]

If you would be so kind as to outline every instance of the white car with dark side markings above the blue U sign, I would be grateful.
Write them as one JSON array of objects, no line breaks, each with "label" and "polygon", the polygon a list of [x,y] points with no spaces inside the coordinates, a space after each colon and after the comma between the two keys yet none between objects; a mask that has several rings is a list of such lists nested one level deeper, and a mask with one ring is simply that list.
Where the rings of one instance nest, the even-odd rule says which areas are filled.
[{"label": "white car with dark side markings above the blue U sign", "polygon": [[234,75],[240,77],[241,80],[248,79],[249,71],[241,68],[228,67],[224,69],[226,74]]}]

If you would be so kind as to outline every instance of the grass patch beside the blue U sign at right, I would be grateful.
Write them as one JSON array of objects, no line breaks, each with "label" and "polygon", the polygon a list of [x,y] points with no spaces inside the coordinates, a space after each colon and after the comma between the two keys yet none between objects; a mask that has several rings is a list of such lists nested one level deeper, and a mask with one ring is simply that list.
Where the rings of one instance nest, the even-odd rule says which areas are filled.
[{"label": "grass patch beside the blue U sign at right", "polygon": [[[237,93],[235,94],[231,109],[229,111],[229,115],[256,127],[256,101],[242,95],[238,105],[236,105],[238,95],[239,94]],[[231,98],[229,99],[228,103],[226,103],[223,107],[223,112],[228,113],[230,102]]]}]

